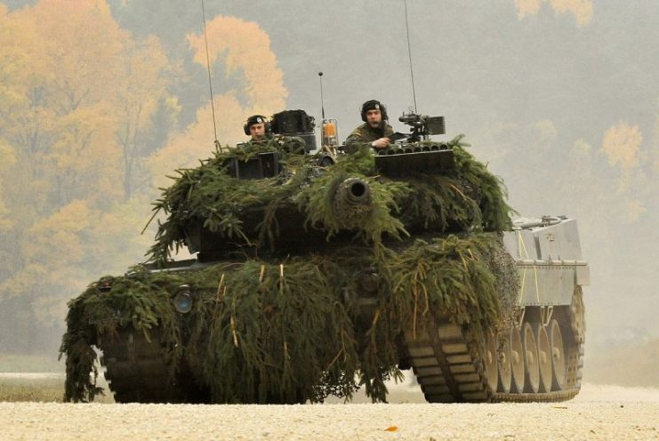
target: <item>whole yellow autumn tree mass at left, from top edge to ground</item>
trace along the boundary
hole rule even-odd
[[[176,126],[174,75],[102,0],[0,4],[0,302],[60,323],[92,277],[142,256],[144,161]]]

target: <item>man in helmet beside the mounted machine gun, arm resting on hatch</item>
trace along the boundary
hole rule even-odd
[[[346,140],[345,149],[348,153],[355,153],[360,146],[369,145],[376,150],[388,148],[390,136],[394,131],[387,123],[387,108],[378,100],[367,100],[362,104],[362,121]]]

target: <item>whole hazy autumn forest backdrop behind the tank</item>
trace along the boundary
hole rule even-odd
[[[659,3],[408,0],[419,111],[525,216],[579,220],[590,354],[659,338]],[[218,138],[253,113],[414,105],[403,0],[205,2]],[[68,299],[143,260],[173,169],[213,150],[200,2],[0,0],[0,353],[56,353]]]

